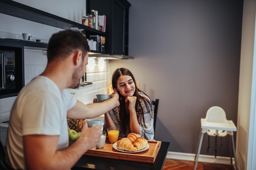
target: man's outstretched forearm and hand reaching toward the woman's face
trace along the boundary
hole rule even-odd
[[[71,119],[88,119],[98,117],[107,113],[112,108],[119,106],[119,95],[114,89],[111,98],[100,103],[83,104],[82,102],[76,102],[76,105],[67,110],[67,118]]]

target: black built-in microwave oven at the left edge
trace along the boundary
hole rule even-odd
[[[18,95],[24,86],[23,47],[0,46],[0,99]]]

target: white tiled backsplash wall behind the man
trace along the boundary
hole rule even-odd
[[[31,79],[40,73],[42,73],[47,64],[46,51],[25,49],[24,50],[24,71],[25,71],[25,85],[31,81]],[[90,86],[85,86],[82,89],[68,89],[68,91],[75,93],[73,97],[80,100],[84,104],[93,102],[97,94],[108,93],[108,60],[104,60],[103,67],[99,66],[99,60],[94,59],[94,66],[91,68],[87,66],[87,82],[92,82]],[[9,120],[9,114],[13,102],[16,97],[9,97],[0,99],[0,122]]]

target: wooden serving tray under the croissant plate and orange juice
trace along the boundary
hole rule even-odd
[[[142,152],[136,152],[136,153],[126,153],[126,152],[120,152],[118,150],[115,150],[113,148],[113,144],[111,144],[108,141],[108,137],[107,137],[104,148],[102,149],[93,148],[85,152],[84,155],[112,158],[112,159],[121,159],[121,160],[127,160],[127,161],[154,163],[157,157],[157,154],[160,150],[161,143],[162,143],[161,141],[148,141],[149,148],[147,150]]]

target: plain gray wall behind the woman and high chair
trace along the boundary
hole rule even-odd
[[[128,1],[135,59],[110,60],[110,75],[130,69],[141,90],[160,99],[155,139],[170,141],[169,151],[195,153],[208,108],[222,107],[237,124],[243,1]],[[201,154],[214,155],[213,137],[207,154],[204,135]],[[228,137],[221,149],[218,138],[218,156],[229,157]]]

